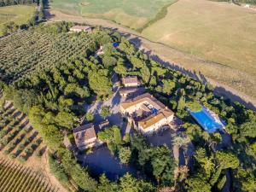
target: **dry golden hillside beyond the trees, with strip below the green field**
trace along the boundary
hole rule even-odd
[[[255,102],[256,80],[253,63],[256,55],[253,51],[253,34],[256,22],[253,10],[230,3],[179,0],[169,6],[165,18],[156,20],[141,34],[108,22],[108,18],[91,19],[90,15],[84,17],[67,11],[64,13],[63,9],[60,11],[55,6],[49,12],[55,15],[52,20],[87,22],[90,25],[119,28],[121,32],[142,36],[144,39],[138,38],[142,49],[146,47],[164,61],[184,67],[190,72],[200,71],[212,84],[222,84],[224,89],[234,95],[245,101]],[[150,43],[147,39],[160,44]],[[233,90],[237,90],[237,93]]]

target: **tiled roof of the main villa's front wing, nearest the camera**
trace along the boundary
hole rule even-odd
[[[151,125],[156,124],[159,122],[161,119],[166,119],[170,116],[172,116],[174,113],[172,110],[168,108],[161,109],[157,114],[152,114],[148,118],[143,119],[138,122],[138,125],[142,126],[143,129],[147,129]]]

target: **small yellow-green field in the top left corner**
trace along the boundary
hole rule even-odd
[[[6,22],[14,21],[20,25],[26,23],[33,14],[35,7],[26,5],[14,5],[0,8],[0,36],[3,35],[3,25]]]

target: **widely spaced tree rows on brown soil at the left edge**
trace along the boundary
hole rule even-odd
[[[29,125],[26,115],[15,110],[11,102],[0,111],[0,150],[20,162],[33,154],[40,157],[45,150],[42,139]]]

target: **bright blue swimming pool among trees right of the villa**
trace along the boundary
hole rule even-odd
[[[199,123],[199,125],[201,125],[202,128],[209,133],[224,128],[224,124],[219,120],[214,119],[212,114],[207,111],[207,108],[203,107],[203,109],[199,112],[189,111],[189,113],[197,121],[197,123]]]

